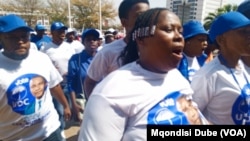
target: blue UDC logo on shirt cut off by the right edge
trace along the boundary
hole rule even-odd
[[[247,84],[241,91],[232,107],[232,118],[235,124],[250,124],[250,85]]]

